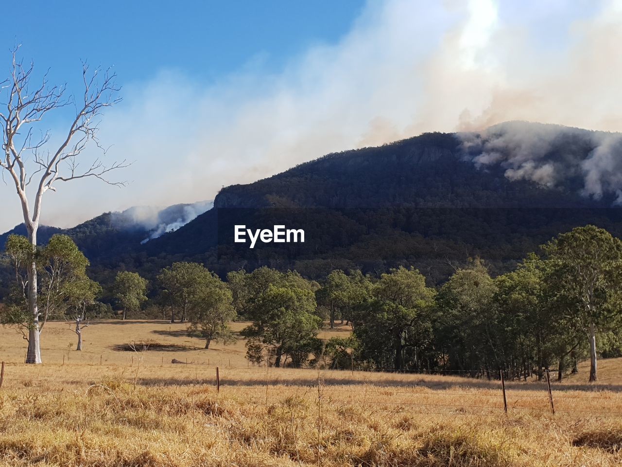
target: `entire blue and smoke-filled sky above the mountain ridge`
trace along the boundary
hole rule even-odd
[[[16,44],[36,78],[49,69],[68,92],[81,91],[80,60],[117,75],[123,100],[99,137],[106,163],[131,161],[109,177],[127,184],[83,179],[46,192],[42,223],[70,227],[134,205],[213,199],[222,186],[423,131],[506,120],[620,131],[621,5],[26,0],[2,6],[15,21],[0,29],[0,81]],[[42,122],[52,146],[70,117]],[[4,180],[0,231],[21,222]]]

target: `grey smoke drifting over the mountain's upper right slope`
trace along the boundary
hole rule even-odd
[[[609,192],[616,194],[616,204],[622,202],[620,133],[513,121],[460,137],[466,157],[480,168],[499,164],[510,180],[548,187],[580,179],[583,196],[600,199]]]

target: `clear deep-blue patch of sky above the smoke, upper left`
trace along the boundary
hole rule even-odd
[[[24,58],[51,68],[52,78],[71,81],[80,59],[88,59],[114,65],[122,82],[170,68],[210,82],[248,62],[277,72],[312,45],[337,41],[364,6],[360,0],[3,3],[2,16],[15,19],[0,29],[4,62],[17,42]]]

